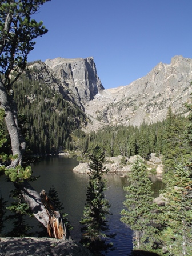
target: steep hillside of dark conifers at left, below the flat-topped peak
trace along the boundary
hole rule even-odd
[[[29,75],[32,71],[22,74],[14,85],[22,131],[30,150],[40,155],[73,150],[71,131],[86,122],[85,115],[59,92],[35,81]]]

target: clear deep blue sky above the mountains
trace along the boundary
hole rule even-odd
[[[105,89],[192,58],[192,0],[51,0],[33,18],[49,32],[28,61],[93,56]]]

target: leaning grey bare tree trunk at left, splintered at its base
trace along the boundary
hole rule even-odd
[[[22,165],[22,156],[25,152],[26,143],[18,125],[17,105],[13,99],[13,90],[10,90],[10,95],[7,94],[2,81],[0,81],[0,102],[5,110],[5,122],[11,139],[11,150],[15,157],[15,159],[11,161],[11,165],[7,166],[7,168],[15,168],[18,165]],[[47,210],[46,205],[43,205],[41,197],[29,182],[25,180],[22,183],[14,183],[14,185],[21,191],[23,198],[30,206],[35,218],[47,228],[51,237],[69,239],[69,232],[65,225],[63,225],[62,218],[59,217],[59,212],[54,212],[55,217],[54,214],[51,215],[50,210]],[[50,225],[52,231],[50,231]]]

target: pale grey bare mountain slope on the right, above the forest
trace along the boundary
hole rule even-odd
[[[171,105],[185,113],[192,92],[192,59],[175,56],[169,65],[159,63],[145,77],[130,85],[101,91],[86,103],[85,113],[101,125],[134,125],[161,121]],[[94,129],[96,126],[90,126]]]

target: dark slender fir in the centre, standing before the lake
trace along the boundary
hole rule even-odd
[[[113,245],[106,243],[106,238],[114,237],[107,234],[109,225],[107,215],[109,215],[110,204],[105,198],[106,180],[103,175],[107,173],[103,167],[105,153],[101,147],[96,146],[90,155],[89,163],[89,187],[87,189],[87,199],[83,218],[80,223],[83,225],[81,243],[91,250],[95,255],[102,255],[101,251],[111,249]]]

